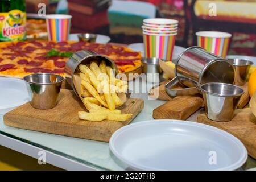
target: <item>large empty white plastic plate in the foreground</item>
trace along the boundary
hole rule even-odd
[[[138,170],[234,170],[246,162],[245,146],[216,127],[179,120],[138,122],[115,131],[110,150]]]

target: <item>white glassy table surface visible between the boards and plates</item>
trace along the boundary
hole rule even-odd
[[[139,83],[141,82],[141,85]],[[144,109],[137,115],[132,123],[151,120],[152,110],[164,104],[165,101],[150,100],[146,92],[154,84],[145,80],[129,82],[129,89],[141,89],[141,94],[133,93],[131,97],[143,98]],[[196,115],[204,112],[197,111],[188,118],[196,121]],[[65,137],[55,134],[47,134],[38,131],[30,131],[9,127],[3,123],[3,115],[0,115],[0,144],[13,150],[38,158],[39,151],[46,152],[46,162],[69,170],[125,170],[126,164],[119,161],[109,150],[109,144],[94,140]],[[250,159],[250,164],[256,166],[255,160]],[[255,164],[254,164],[255,163]]]

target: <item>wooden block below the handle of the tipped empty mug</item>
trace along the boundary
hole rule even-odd
[[[187,119],[203,105],[198,96],[177,96],[153,111],[154,119]]]

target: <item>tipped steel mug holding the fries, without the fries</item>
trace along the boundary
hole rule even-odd
[[[73,76],[76,73],[80,73],[79,70],[79,64],[88,64],[90,61],[101,61],[105,60],[106,65],[109,65],[114,69],[115,75],[118,74],[118,68],[115,65],[114,61],[110,60],[106,56],[97,55],[95,52],[92,51],[78,51],[76,53],[73,53],[71,57],[69,57],[69,60],[67,61],[65,65],[65,73],[66,73],[66,80],[69,83],[69,85],[72,86],[73,90],[75,91],[76,95],[79,96],[76,92],[76,88],[73,85]]]

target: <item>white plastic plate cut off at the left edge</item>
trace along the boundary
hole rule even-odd
[[[26,84],[17,78],[0,77],[0,114],[29,101]]]

